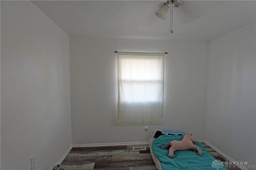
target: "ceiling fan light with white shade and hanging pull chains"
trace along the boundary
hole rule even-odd
[[[158,18],[160,18],[161,20],[166,20],[166,14],[170,8],[170,33],[173,33],[173,30],[172,30],[173,7],[178,8],[182,4],[184,4],[184,2],[180,0],[168,0],[167,2],[164,2],[164,4],[159,8],[158,11],[155,12]]]

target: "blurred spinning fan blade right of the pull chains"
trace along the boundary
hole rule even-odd
[[[182,1],[182,5],[174,8],[174,20],[184,24],[200,18],[204,9],[200,6],[200,1]]]

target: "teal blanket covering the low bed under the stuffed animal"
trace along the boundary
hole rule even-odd
[[[180,137],[178,135],[161,135],[153,141],[152,150],[161,162],[163,170],[217,170],[217,168],[218,170],[227,170],[221,164],[213,164],[212,167],[215,158],[206,151],[200,142],[196,142],[194,145],[200,147],[203,156],[198,156],[197,152],[192,150],[177,150],[174,152],[175,158],[169,158],[169,150],[161,149],[161,147],[173,140],[180,141]]]

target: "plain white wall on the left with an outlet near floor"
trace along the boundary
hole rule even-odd
[[[69,36],[30,1],[1,1],[1,169],[52,169],[71,145]]]

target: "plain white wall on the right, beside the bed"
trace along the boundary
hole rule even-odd
[[[204,139],[256,164],[255,21],[210,41]]]

